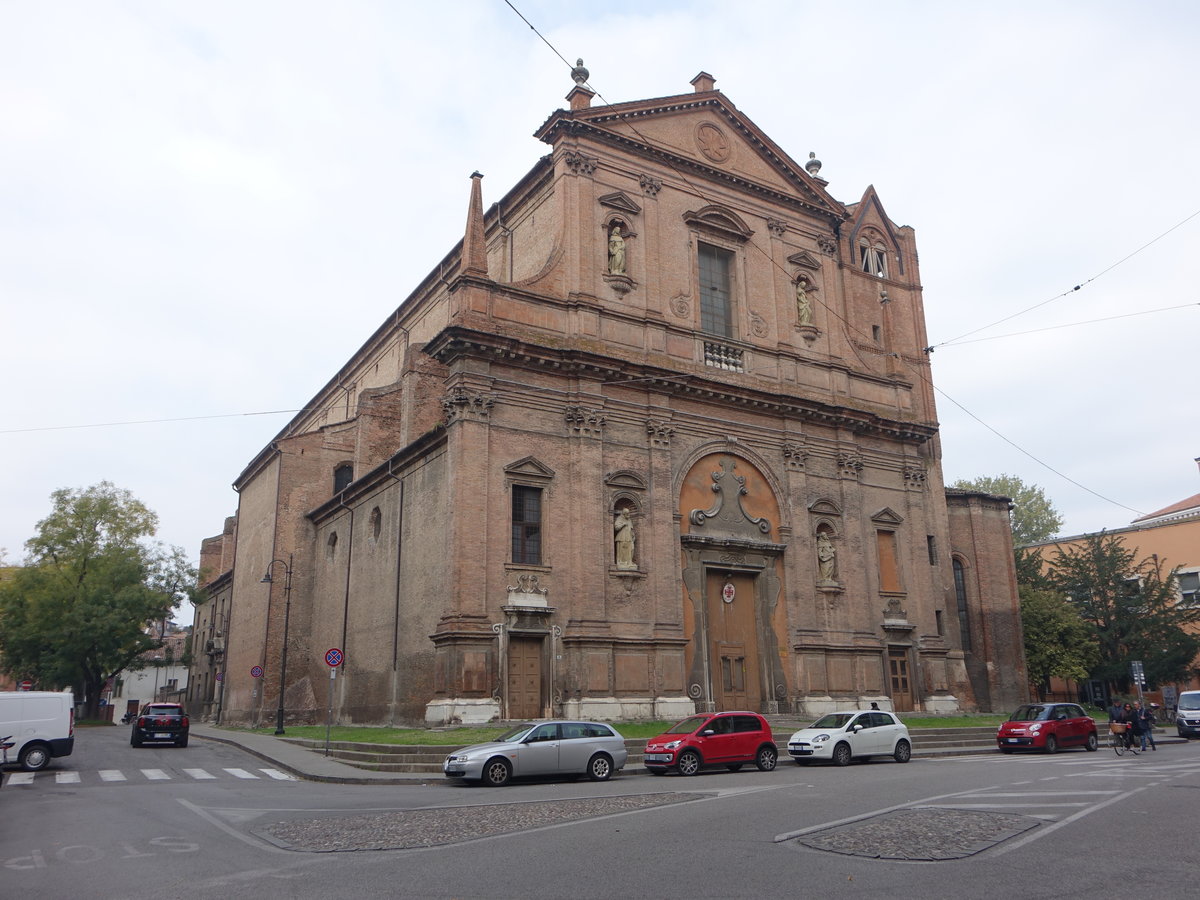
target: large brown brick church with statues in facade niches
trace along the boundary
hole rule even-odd
[[[577,79],[486,212],[472,176],[462,242],[238,476],[193,714],[271,721],[284,641],[289,722],[1026,698],[1008,503],[943,487],[913,230],[692,86]]]

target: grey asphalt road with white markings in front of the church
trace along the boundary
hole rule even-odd
[[[0,896],[1194,895],[1200,743],[608,782],[324,785],[240,749],[76,754],[0,790]]]

